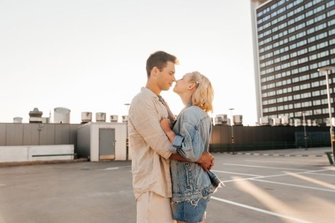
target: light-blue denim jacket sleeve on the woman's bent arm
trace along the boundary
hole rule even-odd
[[[186,114],[191,115],[191,114]],[[179,153],[181,156],[195,162],[200,159],[204,152],[204,142],[201,137],[199,125],[201,121],[193,118],[183,118],[179,134],[175,136],[173,146],[170,147],[171,153]]]

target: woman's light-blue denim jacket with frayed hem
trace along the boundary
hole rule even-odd
[[[189,201],[196,205],[220,187],[220,179],[211,171],[207,173],[198,164],[202,153],[208,152],[211,119],[207,112],[191,101],[178,115],[173,131],[176,136],[171,146],[172,153],[179,153],[191,162],[175,159],[170,161],[172,176],[172,202]]]

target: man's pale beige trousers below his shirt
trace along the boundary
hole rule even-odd
[[[172,223],[171,198],[145,192],[137,198],[137,223]]]

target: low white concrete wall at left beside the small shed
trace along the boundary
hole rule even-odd
[[[74,156],[32,157],[33,155],[57,155],[73,153],[74,145],[0,146],[0,162],[74,159]]]

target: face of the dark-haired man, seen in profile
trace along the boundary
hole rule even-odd
[[[157,84],[162,91],[167,91],[175,81],[175,64],[168,61],[162,71],[158,71]]]

